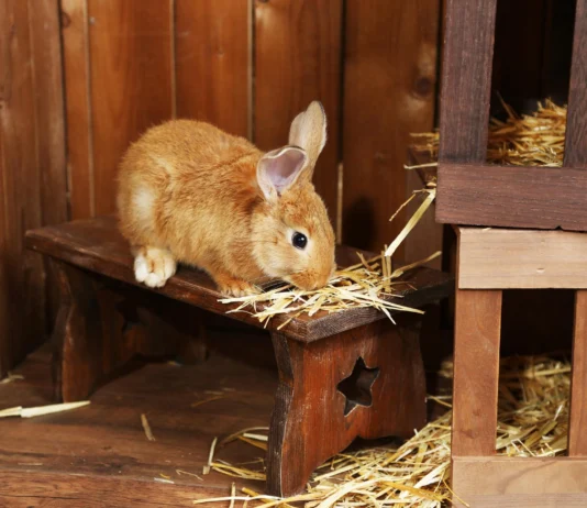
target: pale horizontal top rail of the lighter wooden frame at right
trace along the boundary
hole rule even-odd
[[[587,288],[587,234],[457,228],[461,289]]]

